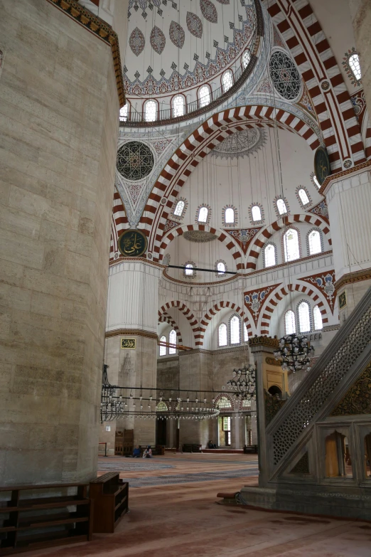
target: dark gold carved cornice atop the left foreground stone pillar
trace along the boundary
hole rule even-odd
[[[126,98],[124,92],[124,80],[122,79],[122,63],[119,51],[119,38],[110,25],[100,17],[92,14],[75,0],[46,0],[52,6],[63,11],[68,17],[85,27],[93,35],[111,47],[114,62],[114,75],[116,76],[117,94],[119,95],[120,107],[123,107]]]

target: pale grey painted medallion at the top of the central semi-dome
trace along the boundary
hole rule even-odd
[[[210,154],[212,157],[220,157],[221,159],[249,157],[249,154],[263,147],[266,141],[267,135],[264,129],[256,127],[242,129],[223,139]]]

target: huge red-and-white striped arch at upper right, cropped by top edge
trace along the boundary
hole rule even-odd
[[[307,0],[262,0],[298,66],[316,108],[331,169],[364,162],[365,147],[348,89],[330,44]],[[324,80],[330,83],[323,89]]]

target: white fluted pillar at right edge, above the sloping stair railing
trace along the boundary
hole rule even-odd
[[[371,285],[371,164],[330,176],[325,188],[340,325]],[[343,174],[343,173],[342,173]]]

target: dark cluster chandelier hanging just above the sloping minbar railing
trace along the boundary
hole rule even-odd
[[[284,371],[309,371],[312,366],[314,348],[308,337],[296,333],[286,334],[279,339],[279,349],[274,351],[276,360],[281,359]]]

